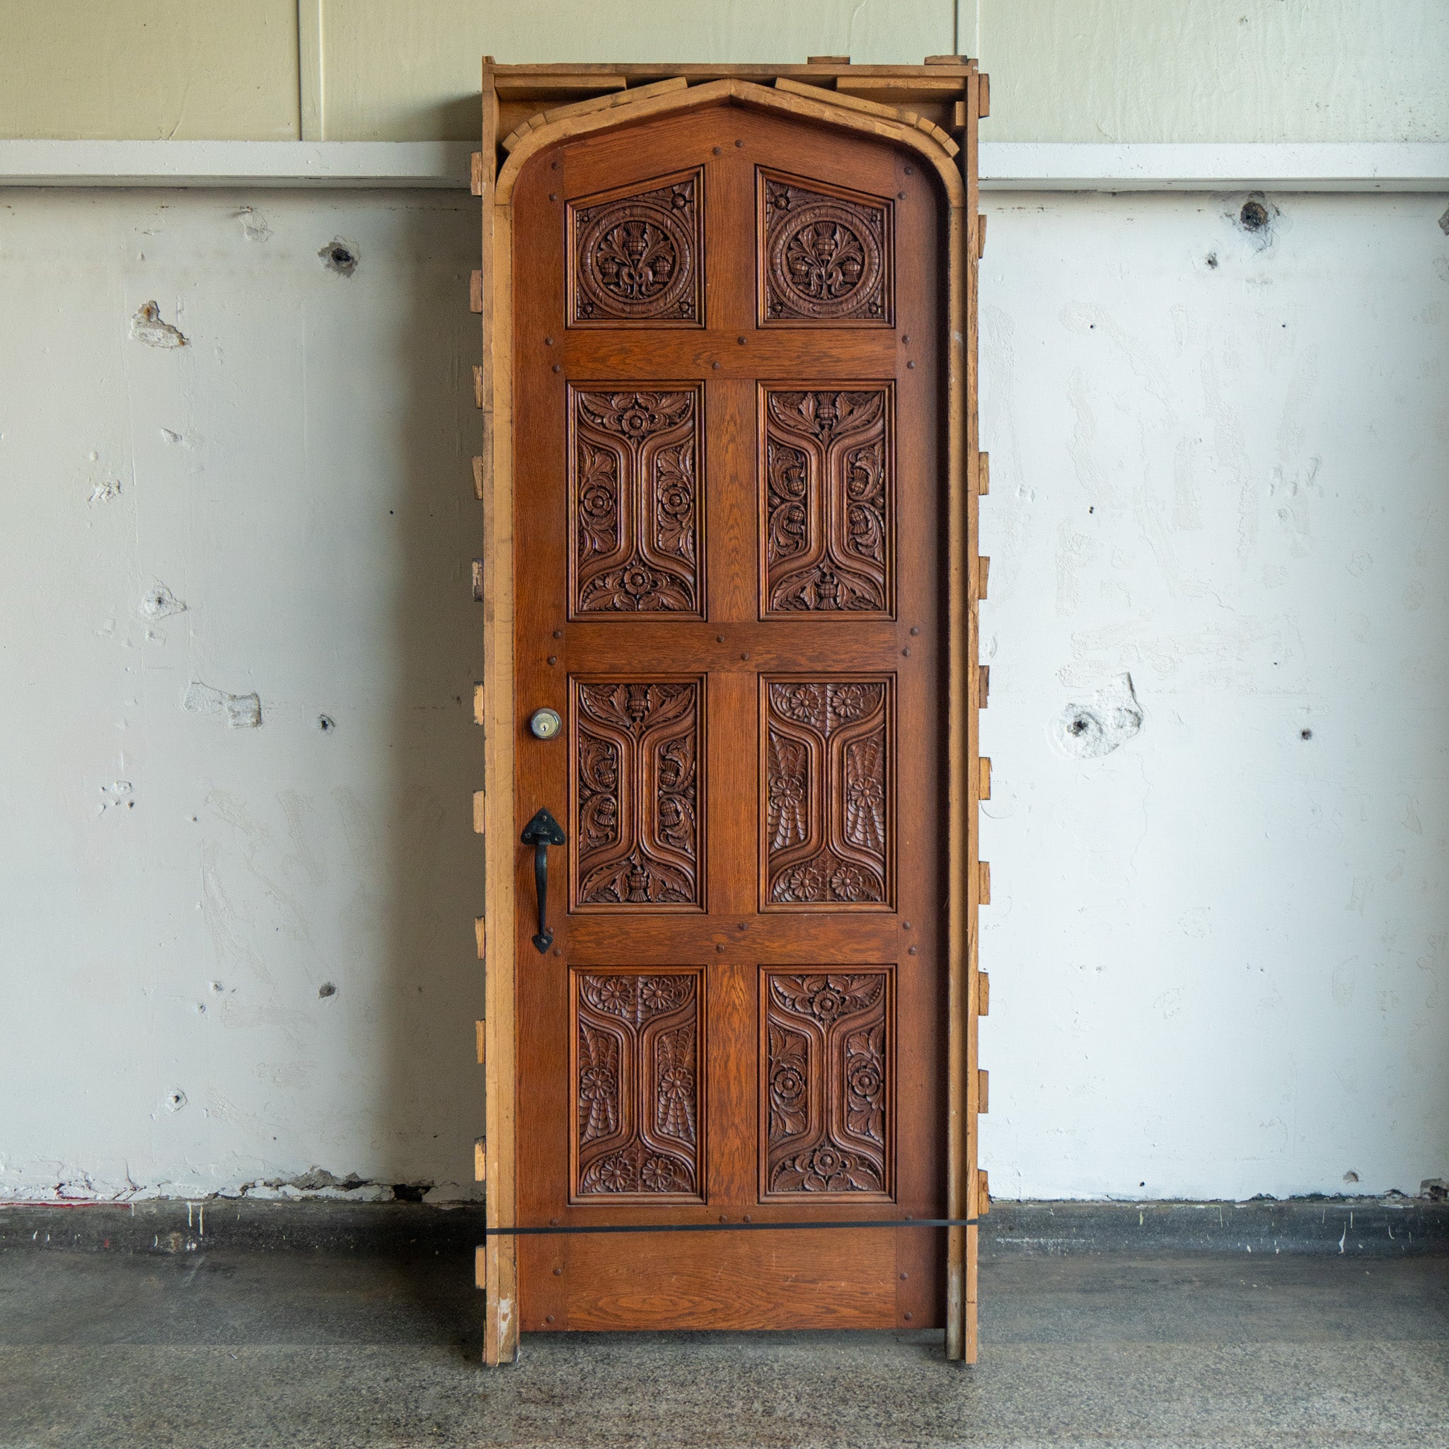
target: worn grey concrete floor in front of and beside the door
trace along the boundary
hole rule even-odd
[[[4,1449],[1449,1446],[1449,1258],[982,1268],[910,1333],[549,1335],[478,1366],[455,1255],[0,1253]]]

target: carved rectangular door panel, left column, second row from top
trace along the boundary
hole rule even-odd
[[[703,390],[571,387],[569,617],[701,619]]]

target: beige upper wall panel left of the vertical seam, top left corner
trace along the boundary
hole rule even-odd
[[[0,0],[0,139],[296,136],[296,0]]]

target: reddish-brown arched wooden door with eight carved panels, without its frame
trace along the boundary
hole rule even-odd
[[[927,171],[720,104],[517,178],[523,1224],[945,1214]],[[943,1236],[520,1237],[522,1327],[927,1327]]]

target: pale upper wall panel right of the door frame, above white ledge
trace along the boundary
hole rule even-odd
[[[1445,0],[978,0],[985,141],[1443,141]]]

